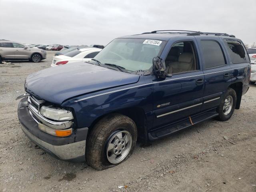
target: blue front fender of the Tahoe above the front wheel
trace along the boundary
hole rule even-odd
[[[62,103],[62,106],[74,109],[77,128],[90,127],[101,116],[125,108],[142,108],[145,114],[152,116],[150,113],[153,109],[152,86],[152,84],[146,84],[142,78],[133,85],[72,98]]]

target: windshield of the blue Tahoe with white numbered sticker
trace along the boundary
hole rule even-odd
[[[118,38],[110,42],[94,59],[129,71],[150,70],[152,59],[160,56],[165,44],[165,41],[160,40]]]

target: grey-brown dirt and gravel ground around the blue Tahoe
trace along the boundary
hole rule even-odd
[[[137,144],[126,162],[96,171],[52,158],[20,129],[15,98],[28,74],[50,67],[54,52],[47,54],[37,64],[0,64],[0,191],[256,192],[256,85],[229,121],[212,119],[151,146]]]

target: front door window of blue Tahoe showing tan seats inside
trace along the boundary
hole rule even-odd
[[[166,72],[176,74],[198,70],[197,52],[193,41],[174,43],[165,59]]]

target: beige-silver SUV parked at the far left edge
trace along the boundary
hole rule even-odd
[[[46,51],[39,48],[30,48],[23,44],[0,40],[0,61],[1,60],[30,60],[40,62],[46,59]]]

